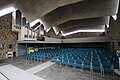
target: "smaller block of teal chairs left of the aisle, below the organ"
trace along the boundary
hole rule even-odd
[[[64,49],[45,49],[32,53],[24,53],[23,57],[35,61],[43,61],[59,55]]]

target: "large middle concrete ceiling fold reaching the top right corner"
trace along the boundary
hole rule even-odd
[[[119,0],[86,0],[59,7],[41,18],[46,27],[53,27],[76,19],[115,15]]]

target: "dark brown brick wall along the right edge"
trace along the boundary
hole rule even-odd
[[[111,49],[112,50],[120,50],[120,6],[117,14],[117,20],[114,20],[112,17],[110,18],[110,28],[108,36],[112,39]]]

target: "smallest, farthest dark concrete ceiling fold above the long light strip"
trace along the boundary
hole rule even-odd
[[[106,16],[106,17],[98,17],[98,18],[71,20],[71,21],[65,22],[63,24],[60,24],[55,28],[56,28],[57,32],[67,30],[70,28],[74,28],[77,26],[81,26],[81,27],[85,27],[85,28],[87,28],[89,26],[93,26],[93,28],[94,28],[95,25],[108,25],[109,18],[110,18],[109,16]]]

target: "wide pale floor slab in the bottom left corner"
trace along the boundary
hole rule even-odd
[[[22,69],[19,69],[11,64],[1,66],[0,72],[3,75],[5,75],[8,78],[8,80],[45,80],[31,73],[28,73]],[[3,77],[3,76],[0,76],[0,77]]]

